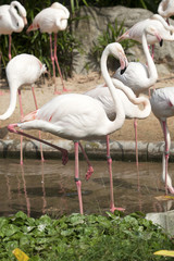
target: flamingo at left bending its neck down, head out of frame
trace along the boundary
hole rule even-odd
[[[20,98],[21,117],[24,116],[20,87],[25,84],[32,85],[35,105],[36,105],[36,109],[38,109],[35,92],[34,92],[34,84],[36,80],[39,79],[41,74],[46,73],[46,71],[47,71],[46,65],[42,64],[39,61],[39,59],[37,59],[35,55],[32,55],[32,54],[22,53],[9,61],[5,67],[5,73],[7,73],[9,87],[10,87],[10,104],[7,111],[2,115],[0,115],[0,120],[4,121],[13,114],[16,105],[17,92]],[[23,138],[21,137],[21,164],[23,164],[22,141],[23,141]],[[41,153],[41,160],[44,161],[42,149],[40,153]]]

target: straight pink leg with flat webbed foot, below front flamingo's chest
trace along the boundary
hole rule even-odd
[[[107,161],[109,166],[109,174],[110,174],[110,211],[114,212],[115,210],[125,211],[123,208],[115,208],[114,206],[114,197],[113,197],[113,177],[112,177],[112,159],[110,156],[110,140],[109,135],[107,135]]]

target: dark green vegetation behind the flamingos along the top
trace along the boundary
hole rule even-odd
[[[50,7],[55,0],[20,0],[20,2],[25,7],[27,11],[27,21],[28,25],[32,24],[35,15],[45,8]],[[64,32],[60,32],[58,34],[58,59],[60,66],[62,69],[62,73],[64,77],[72,76],[72,63],[73,57],[72,53],[77,53],[74,50],[83,51],[80,42],[77,41],[75,36],[73,35],[73,23],[79,18],[77,11],[82,5],[95,5],[98,8],[103,7],[112,7],[112,5],[125,5],[128,8],[144,8],[149,9],[152,12],[157,11],[158,4],[160,0],[60,0],[62,4],[67,7],[71,12],[71,17],[69,20],[67,29]],[[10,4],[11,0],[0,0],[0,5]],[[117,32],[123,32],[122,28],[115,27],[115,25],[109,25],[108,30],[103,32],[103,36],[99,39],[99,46],[95,46],[92,52],[95,52],[96,60],[100,57],[101,49],[109,42],[105,40],[112,39]],[[108,39],[105,38],[108,37]],[[128,48],[130,44],[123,44],[124,48]],[[1,60],[1,73],[4,75],[4,69],[9,61],[8,58],[8,48],[9,48],[9,36],[1,35],[0,36],[0,60]],[[30,32],[26,34],[26,28],[20,34],[12,34],[12,57],[20,53],[30,53],[35,54],[41,62],[46,63],[49,71],[51,71],[51,60],[50,60],[50,47],[49,47],[49,36],[48,34],[40,34],[39,30]],[[94,53],[92,53],[94,54]],[[73,54],[75,55],[75,54]]]

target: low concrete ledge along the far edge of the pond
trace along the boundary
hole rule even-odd
[[[57,140],[50,142],[62,147],[69,151],[69,158],[74,158],[74,144],[71,140]],[[82,141],[89,159],[105,159],[105,141]],[[1,140],[0,158],[18,158],[20,157],[20,139],[18,140]],[[161,161],[164,142],[142,142],[138,141],[139,161]],[[61,152],[52,147],[42,144],[45,158],[61,159]],[[110,140],[111,156],[113,160],[135,161],[135,141],[113,141]],[[24,140],[23,150],[25,158],[39,158],[40,144],[34,140]],[[79,154],[82,157],[82,153]],[[174,161],[174,142],[171,145],[170,161]]]

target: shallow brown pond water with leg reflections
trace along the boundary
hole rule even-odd
[[[60,216],[79,212],[74,182],[74,161],[65,166],[60,160],[0,160],[0,216],[22,210],[29,216],[41,214]],[[87,164],[79,161],[84,213],[104,214],[110,207],[110,179],[105,161],[91,161],[94,174],[85,179]],[[170,163],[170,173],[174,164]],[[174,178],[173,178],[174,179]],[[138,185],[139,184],[139,185]],[[172,210],[174,201],[159,201],[164,195],[161,182],[161,163],[139,164],[139,182],[135,162],[113,161],[113,185],[115,206],[125,208],[125,213],[141,211],[162,212]],[[138,190],[139,186],[139,190]]]

